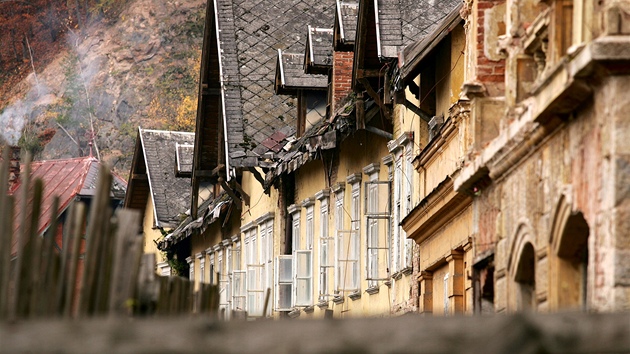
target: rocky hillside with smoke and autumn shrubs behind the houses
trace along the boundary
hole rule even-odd
[[[0,112],[2,137],[36,159],[94,154],[126,175],[138,126],[192,130],[205,1],[135,0],[116,21],[66,32]],[[2,104],[0,104],[2,107]]]

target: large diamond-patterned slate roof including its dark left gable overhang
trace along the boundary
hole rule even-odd
[[[205,107],[201,99],[205,95],[218,95],[219,105],[212,109],[221,112],[222,119],[219,121],[210,108],[207,113],[198,114],[197,137],[219,136],[218,146],[227,141],[224,153],[227,152],[228,170],[256,166],[259,156],[253,149],[277,130],[295,126],[297,116],[294,98],[274,95],[277,50],[302,52],[306,24],[332,24],[334,0],[267,0],[257,4],[215,0],[208,8],[200,107]],[[204,84],[208,88],[206,94]],[[209,144],[201,140],[196,143],[195,159],[200,162],[194,163],[193,179],[197,176],[195,171],[213,170],[220,164],[220,159],[203,163],[204,154],[216,155],[208,152],[216,141],[208,139]]]

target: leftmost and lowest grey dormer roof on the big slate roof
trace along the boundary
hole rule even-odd
[[[278,49],[274,84],[276,94],[296,95],[299,89],[325,89],[327,84],[327,76],[304,72],[304,54],[286,53]]]

